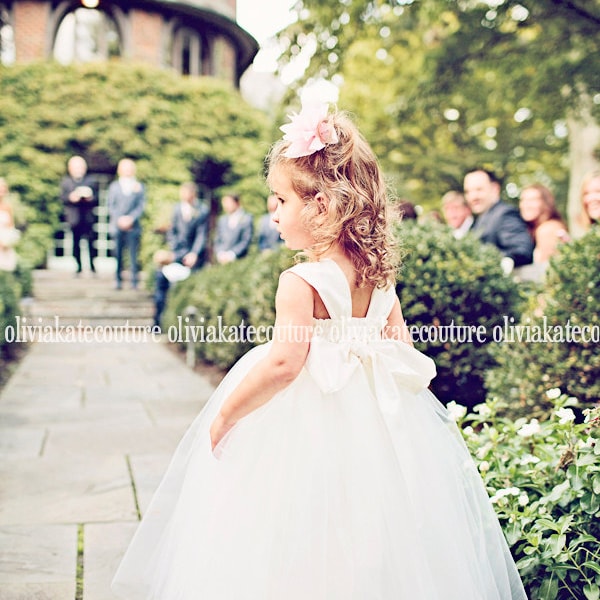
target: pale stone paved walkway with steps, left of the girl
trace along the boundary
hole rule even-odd
[[[31,323],[151,323],[148,292],[112,279],[42,271],[35,290]],[[212,389],[164,339],[31,344],[0,393],[0,600],[113,599],[140,514]]]

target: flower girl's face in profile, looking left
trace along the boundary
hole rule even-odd
[[[304,202],[294,191],[290,177],[283,169],[275,169],[269,176],[273,194],[277,196],[277,210],[273,221],[285,245],[290,250],[305,250],[315,242],[305,226],[301,213]]]

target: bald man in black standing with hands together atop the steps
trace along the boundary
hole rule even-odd
[[[97,206],[95,182],[87,172],[87,163],[82,156],[72,156],[67,162],[67,174],[60,182],[60,199],[63,203],[65,221],[73,234],[73,258],[77,263],[77,274],[81,273],[81,241],[85,240],[90,260],[90,271],[96,272],[94,258],[94,224]]]

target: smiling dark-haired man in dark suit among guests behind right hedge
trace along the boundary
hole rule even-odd
[[[465,198],[475,215],[471,231],[496,246],[512,266],[528,265],[533,262],[533,239],[519,209],[500,200],[500,189],[491,171],[474,169],[465,175]]]

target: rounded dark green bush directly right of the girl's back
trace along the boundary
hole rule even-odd
[[[406,221],[398,237],[405,256],[396,291],[415,346],[435,360],[433,392],[444,403],[483,402],[494,328],[519,316],[517,284],[503,274],[493,246],[455,240],[445,226]],[[461,342],[469,333],[471,341]]]

